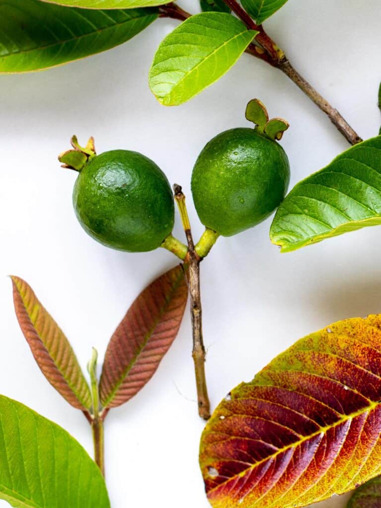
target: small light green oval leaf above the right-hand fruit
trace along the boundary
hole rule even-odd
[[[222,12],[186,19],[158,47],[149,71],[149,86],[165,106],[177,106],[223,76],[257,31]]]

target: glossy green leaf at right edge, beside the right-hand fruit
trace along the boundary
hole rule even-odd
[[[270,228],[273,243],[290,252],[349,231],[381,224],[381,136],[338,155],[297,183]]]

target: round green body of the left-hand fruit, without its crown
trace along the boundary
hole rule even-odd
[[[73,204],[83,229],[118,250],[153,250],[174,224],[167,177],[148,157],[129,150],[92,158],[75,182]]]

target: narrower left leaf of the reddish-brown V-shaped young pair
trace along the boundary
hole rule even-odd
[[[18,322],[35,360],[49,383],[72,406],[91,407],[91,394],[73,349],[33,289],[12,276]]]

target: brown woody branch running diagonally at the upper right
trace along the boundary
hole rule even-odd
[[[330,103],[294,69],[283,51],[266,33],[263,26],[257,25],[246,11],[244,11],[236,2],[236,0],[224,0],[224,2],[250,30],[259,31],[259,34],[255,39],[259,46],[253,43],[249,44],[245,50],[246,53],[266,61],[272,67],[275,67],[283,72],[283,74],[288,76],[303,91],[303,93],[305,93],[306,96],[328,116],[331,122],[335,125],[336,129],[351,145],[360,143],[362,139],[354,131],[354,129],[352,129],[351,125],[337,111],[337,109],[333,108]],[[166,6],[161,7],[161,17],[170,17],[185,21],[185,19],[190,16],[188,12],[185,12],[182,9],[177,10],[175,4],[168,5],[170,5],[171,8],[167,10]]]

